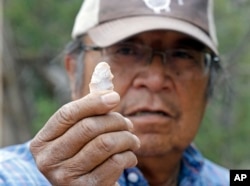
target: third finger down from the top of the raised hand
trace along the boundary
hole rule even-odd
[[[84,166],[78,168],[78,171],[86,174],[114,154],[128,150],[134,151],[139,146],[139,139],[128,131],[102,134],[89,142],[79,153],[66,162],[72,167],[85,162]]]

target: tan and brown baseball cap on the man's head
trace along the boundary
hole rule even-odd
[[[107,47],[150,30],[187,34],[218,54],[213,0],[85,0],[72,37],[88,34]]]

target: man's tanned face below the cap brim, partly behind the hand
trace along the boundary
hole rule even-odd
[[[157,51],[197,47],[188,36],[171,31],[145,32],[127,41]],[[91,44],[89,39],[86,42]],[[88,93],[95,65],[101,60],[107,61],[114,75],[114,89],[121,96],[114,111],[133,122],[134,134],[141,140],[137,155],[157,156],[183,151],[197,133],[204,113],[208,74],[186,67],[188,75],[183,75],[178,69],[173,70],[175,64],[168,65],[169,58],[157,53],[152,56],[151,63],[143,65],[129,61],[127,65],[113,63],[113,59],[105,55],[105,52],[103,56],[96,51],[86,52],[82,96]]]

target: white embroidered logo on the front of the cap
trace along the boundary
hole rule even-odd
[[[143,0],[148,8],[152,9],[156,14],[160,14],[161,11],[170,12],[171,0]],[[176,0],[177,1],[177,0]],[[183,5],[183,0],[178,0],[179,5]]]

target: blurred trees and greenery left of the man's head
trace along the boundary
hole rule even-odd
[[[60,57],[80,3],[5,1],[3,145],[30,139],[69,99]]]

